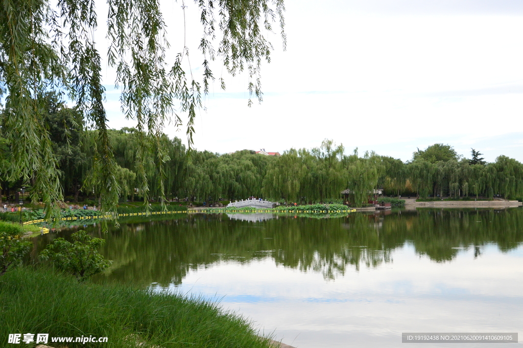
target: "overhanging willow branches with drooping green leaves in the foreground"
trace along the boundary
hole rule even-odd
[[[146,132],[157,140],[157,151],[144,150],[137,161],[151,155],[158,162],[168,160],[160,134],[173,117],[179,125],[183,113],[188,115],[187,136],[192,144],[201,94],[214,80],[212,61],[221,61],[231,75],[246,71],[249,96],[261,101],[261,63],[269,61],[272,50],[265,36],[275,22],[285,48],[283,0],[196,0],[203,55],[203,76],[198,80],[186,71],[185,43],[173,55],[168,51],[159,0],[107,1],[108,17],[101,21],[107,22],[107,61],[116,70],[123,113],[137,122],[140,134]],[[183,2],[181,7],[185,10]],[[99,20],[95,0],[6,0],[0,5],[0,100],[5,98],[6,115],[2,127],[14,159],[9,173],[25,181],[35,175],[32,200],[41,198],[48,207],[62,199],[57,161],[41,111],[42,97],[51,89],[65,93],[86,124],[97,130],[91,181],[97,182],[102,208],[115,207],[120,194],[104,108],[102,57],[95,45]],[[169,60],[171,56],[176,58]],[[224,88],[222,78],[220,84]],[[147,181],[143,172],[137,174]],[[147,198],[147,190],[143,193]]]

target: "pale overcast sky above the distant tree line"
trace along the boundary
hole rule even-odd
[[[283,153],[332,139],[347,153],[358,147],[406,161],[441,142],[469,158],[474,148],[487,161],[505,154],[523,162],[523,2],[285,3],[288,47],[271,36],[263,103],[247,107],[246,76],[225,76],[225,92],[215,83],[196,121],[198,150]],[[173,52],[183,42],[180,5],[164,6]],[[201,76],[199,13],[187,5],[192,71]],[[106,69],[109,125],[132,126],[113,81]],[[165,132],[186,143],[185,129]]]

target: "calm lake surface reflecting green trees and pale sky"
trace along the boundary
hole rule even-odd
[[[523,209],[388,213],[85,229],[106,239],[101,253],[113,260],[98,280],[220,300],[299,348],[399,347],[402,332],[518,332],[523,341]],[[35,254],[56,236],[36,239]]]

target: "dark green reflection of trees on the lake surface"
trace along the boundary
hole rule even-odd
[[[348,270],[390,263],[394,250],[405,244],[435,262],[450,262],[463,248],[472,248],[474,257],[481,257],[483,246],[490,243],[506,252],[523,242],[523,209],[274,216],[257,222],[226,215],[185,215],[164,221],[122,221],[120,228],[105,235],[98,227],[86,230],[106,239],[100,252],[113,261],[99,279],[166,286],[180,284],[189,271],[218,262],[248,264],[267,258],[335,279]],[[33,256],[55,237],[35,239]]]

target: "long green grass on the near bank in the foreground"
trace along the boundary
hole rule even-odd
[[[67,343],[69,348],[270,346],[245,319],[199,298],[78,283],[46,268],[21,267],[0,277],[0,308],[0,340],[5,343],[10,333],[22,338],[49,333],[50,338],[108,338],[107,343]]]

